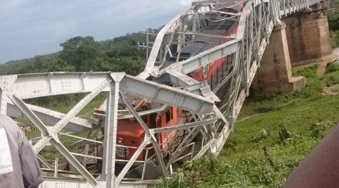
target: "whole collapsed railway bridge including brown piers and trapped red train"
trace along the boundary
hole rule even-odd
[[[321,14],[326,4],[192,3],[157,34],[138,76],[0,76],[0,114],[28,119],[41,132],[31,140],[46,179],[41,187],[147,187],[152,179],[174,173],[184,161],[218,155],[247,96],[305,86],[305,78],[292,76],[291,63],[331,54],[327,19]],[[107,93],[107,100],[92,117],[76,117],[101,92]],[[67,114],[24,102],[72,93],[86,96]],[[102,135],[93,130],[102,130]],[[78,141],[66,148],[60,141],[65,136]],[[53,164],[40,155],[46,146],[57,151]]]

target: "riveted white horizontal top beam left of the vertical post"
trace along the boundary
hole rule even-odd
[[[3,76],[0,76],[0,79]],[[110,73],[37,73],[20,74],[9,86],[8,95],[20,99],[92,92],[98,83],[110,79]],[[102,91],[108,91],[104,88]]]

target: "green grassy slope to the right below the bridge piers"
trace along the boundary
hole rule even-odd
[[[235,133],[217,158],[187,163],[153,187],[280,187],[291,172],[339,121],[339,98],[322,90],[339,83],[338,65],[295,73],[307,78],[300,92],[248,99]],[[249,117],[246,119],[246,117]]]

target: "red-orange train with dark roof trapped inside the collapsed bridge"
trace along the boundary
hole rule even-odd
[[[242,11],[243,5],[239,4],[242,1],[228,1],[227,3],[223,3],[224,9],[217,9],[220,14],[223,11],[238,13]],[[200,2],[204,3],[204,2]],[[209,2],[211,3],[211,2]],[[236,5],[236,6],[232,6]],[[231,8],[226,8],[231,7]],[[225,19],[221,22],[213,22],[213,20],[208,21],[206,27],[201,31],[202,33],[212,34],[212,35],[220,35],[220,36],[232,36],[237,33],[238,23],[236,19]],[[181,50],[181,53],[174,54],[172,58],[168,58],[168,60],[164,63],[161,68],[165,68],[173,63],[176,63],[176,60],[179,57],[179,61],[183,61],[189,59],[193,56],[196,56],[206,50],[213,48],[216,45],[229,41],[226,37],[206,37],[206,36],[196,36],[193,42],[187,43]],[[233,56],[224,57],[218,59],[211,63],[210,65],[204,66],[192,73],[189,74],[190,77],[196,79],[199,82],[208,81],[211,89],[215,85],[217,85],[223,77],[225,77],[230,71],[232,71],[233,67],[230,66],[233,61]],[[164,83],[164,80],[157,80],[158,78],[154,78],[153,81],[158,81]],[[167,84],[171,84],[170,81],[167,81]],[[142,99],[129,99],[134,105],[135,109],[139,111],[147,111],[154,109],[155,107],[152,104],[148,104]],[[153,104],[154,105],[154,104]],[[121,108],[122,111],[126,111],[125,108]],[[101,108],[101,110],[96,110],[96,114],[104,114],[105,108]],[[157,127],[168,127],[178,124],[183,124],[191,121],[193,118],[187,115],[188,113],[182,109],[178,109],[177,107],[168,107],[161,112],[151,113],[143,115],[142,118],[146,125],[149,128],[157,128]],[[170,157],[170,155],[174,152],[174,150],[181,143],[181,138],[187,132],[182,131],[171,131],[171,132],[161,132],[157,133],[156,138],[158,141],[159,148],[162,152],[164,158]],[[116,158],[121,160],[119,163],[126,164],[127,160],[129,160],[132,155],[135,153],[138,146],[143,142],[145,132],[139,123],[134,118],[126,118],[118,120],[118,134],[117,134],[117,156]],[[149,146],[151,147],[151,146]],[[152,152],[151,152],[152,154]],[[148,156],[150,156],[149,154]],[[153,152],[154,154],[154,152]],[[125,160],[125,162],[123,162]],[[137,160],[142,161],[145,159],[145,151],[143,151],[137,158]],[[137,164],[136,164],[137,166]]]

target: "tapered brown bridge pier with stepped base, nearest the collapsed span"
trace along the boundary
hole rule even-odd
[[[286,24],[277,24],[270,36],[270,43],[261,59],[261,67],[257,70],[250,96],[267,96],[272,93],[294,92],[306,85],[304,77],[293,77],[290,53],[286,37]]]

